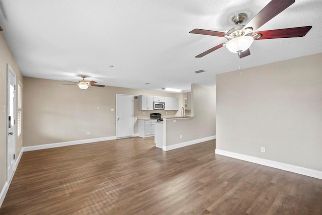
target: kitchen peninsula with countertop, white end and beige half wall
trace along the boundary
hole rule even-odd
[[[155,131],[154,131],[155,147],[161,148],[163,149],[163,151],[168,151],[168,150],[177,149],[180,147],[185,147],[185,146],[194,144],[191,141],[186,141],[189,139],[187,128],[189,127],[189,124],[191,124],[187,122],[188,121],[190,122],[193,119],[194,119],[193,116],[185,116],[185,117],[174,116],[174,117],[164,117],[163,121],[155,122]],[[176,131],[175,134],[172,131]]]

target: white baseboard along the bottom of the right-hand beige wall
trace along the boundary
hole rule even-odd
[[[234,152],[228,152],[228,151],[219,150],[219,149],[215,150],[215,154],[223,155],[223,156],[227,156],[230,158],[235,158],[235,159],[239,159],[239,160],[243,160],[243,161],[249,161],[252,163],[261,164],[264,166],[273,167],[276,169],[285,170],[285,171],[289,171],[289,172],[293,172],[293,173],[298,173],[298,174],[310,176],[313,178],[322,179],[322,172],[317,171],[317,170],[312,170],[312,169],[308,169],[308,168],[304,168],[304,167],[294,166],[294,165],[290,165],[290,164],[280,163],[277,161],[266,160],[266,159],[262,159],[262,158],[238,154],[238,153],[234,153]]]

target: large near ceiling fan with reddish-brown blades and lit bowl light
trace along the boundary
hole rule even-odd
[[[249,47],[252,45],[254,40],[303,37],[312,28],[312,26],[254,32],[254,30],[263,26],[294,2],[295,0],[272,0],[246,25],[241,24],[247,19],[247,14],[237,14],[231,19],[231,21],[237,26],[230,29],[227,33],[203,29],[194,29],[190,31],[189,33],[224,37],[228,40],[228,42],[223,42],[195,57],[203,57],[222,46],[226,46],[229,51],[238,53],[239,58],[241,58],[251,54]]]

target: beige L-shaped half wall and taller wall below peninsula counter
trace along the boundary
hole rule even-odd
[[[194,118],[167,120],[167,146],[216,135],[216,88],[192,84],[191,94]]]

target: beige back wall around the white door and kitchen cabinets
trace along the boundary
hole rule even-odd
[[[115,136],[116,94],[155,95],[179,98],[182,93],[128,88],[90,87],[79,89],[77,85],[63,81],[24,78],[24,147],[57,142]],[[100,109],[97,109],[97,106]],[[149,117],[150,113],[175,115],[180,111],[139,111],[138,99],[134,99],[134,133],[137,133],[137,116]],[[143,115],[143,112],[145,115]],[[91,135],[87,135],[90,131]]]

